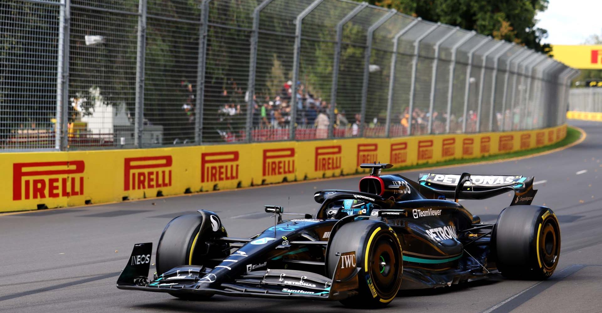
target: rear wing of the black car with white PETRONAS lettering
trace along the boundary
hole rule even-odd
[[[471,175],[458,174],[420,174],[418,183],[445,198],[486,199],[509,191],[514,192],[510,205],[531,204],[537,190],[533,190],[533,178],[520,175]]]

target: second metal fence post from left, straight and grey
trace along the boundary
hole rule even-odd
[[[136,101],[134,145],[142,148],[144,130],[144,56],[146,56],[146,0],[138,0],[138,45],[136,47]]]

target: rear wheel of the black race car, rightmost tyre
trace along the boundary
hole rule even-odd
[[[494,232],[497,267],[515,279],[548,279],[560,257],[560,226],[554,212],[537,205],[504,208]]]

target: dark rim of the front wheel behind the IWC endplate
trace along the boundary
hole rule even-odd
[[[370,277],[374,288],[381,297],[391,297],[396,293],[395,285],[399,277],[399,263],[401,256],[395,246],[394,238],[390,234],[381,234],[374,240],[370,253]]]

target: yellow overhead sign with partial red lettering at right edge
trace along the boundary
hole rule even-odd
[[[580,70],[602,70],[602,45],[552,46],[554,59]]]

